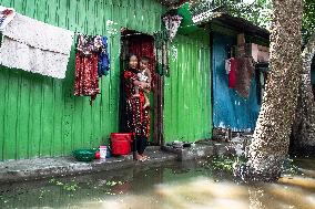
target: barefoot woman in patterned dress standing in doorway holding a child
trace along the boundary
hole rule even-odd
[[[139,81],[138,73],[139,62],[136,55],[129,58],[129,67],[124,71],[124,90],[126,104],[126,127],[129,132],[135,135],[136,159],[145,160],[144,149],[150,136],[150,113],[149,108],[144,108],[144,92],[150,92],[151,85],[146,82]],[[139,87],[139,96],[134,96],[135,86]]]

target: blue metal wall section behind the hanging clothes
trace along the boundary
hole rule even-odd
[[[213,34],[213,126],[230,127],[234,132],[253,130],[260,112],[255,80],[247,100],[228,88],[225,60],[228,48],[235,44],[236,36]]]

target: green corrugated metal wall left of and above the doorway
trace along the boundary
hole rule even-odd
[[[93,106],[73,96],[74,50],[65,80],[0,67],[0,160],[69,155],[95,147],[119,129],[120,28],[160,30],[155,0],[0,0],[47,23],[110,38],[112,69]],[[73,45],[74,49],[74,45]]]

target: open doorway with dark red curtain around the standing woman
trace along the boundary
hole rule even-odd
[[[134,30],[121,30],[121,95],[120,95],[120,132],[128,132],[125,115],[125,90],[123,72],[128,67],[128,58],[135,54],[140,60],[149,58],[149,70],[152,76],[150,100],[150,138],[149,145],[163,145],[163,77],[155,72],[154,38]]]

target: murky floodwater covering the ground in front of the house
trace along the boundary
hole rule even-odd
[[[210,160],[1,185],[0,208],[315,209],[315,159],[295,159],[276,184],[246,185]],[[289,169],[288,169],[289,170]]]

